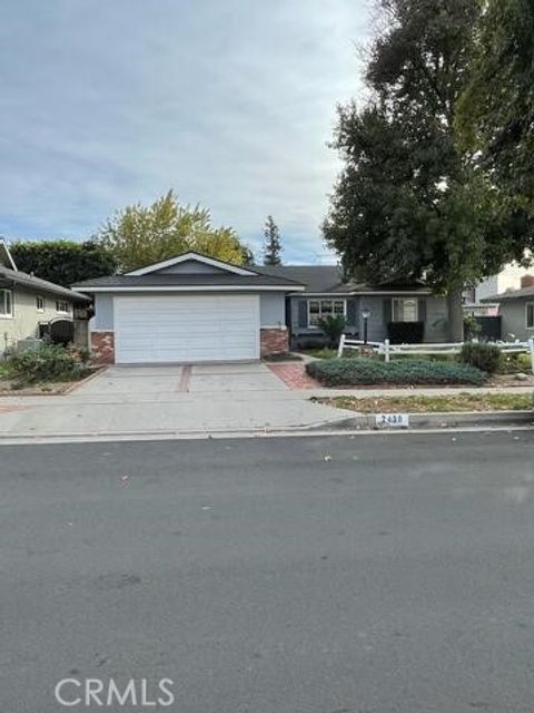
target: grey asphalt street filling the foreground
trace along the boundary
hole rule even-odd
[[[534,710],[534,431],[3,446],[0,508],[1,713]]]

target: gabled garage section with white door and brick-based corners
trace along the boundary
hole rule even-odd
[[[286,295],[298,281],[188,252],[75,285],[95,296],[100,362],[249,361],[286,352]]]

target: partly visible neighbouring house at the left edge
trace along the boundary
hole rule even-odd
[[[20,270],[0,241],[0,355],[21,340],[38,338],[56,320],[73,322],[75,306],[90,299]]]

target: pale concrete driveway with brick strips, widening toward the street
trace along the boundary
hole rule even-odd
[[[112,367],[68,395],[1,399],[0,439],[237,434],[352,416],[310,402],[261,363]]]

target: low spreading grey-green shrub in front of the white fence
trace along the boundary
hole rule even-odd
[[[426,360],[329,359],[306,364],[306,371],[327,387],[365,384],[472,384],[481,385],[486,374],[469,364]]]

